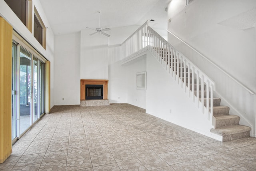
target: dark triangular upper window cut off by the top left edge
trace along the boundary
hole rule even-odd
[[[12,11],[20,18],[23,24],[27,24],[27,1],[26,0],[4,0]]]

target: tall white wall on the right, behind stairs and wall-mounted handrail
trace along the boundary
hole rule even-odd
[[[194,0],[187,6],[185,0],[172,0],[168,5],[168,18],[172,18],[168,30],[255,92],[255,26],[241,30],[251,23],[234,20],[247,16],[255,7],[254,0]],[[230,114],[239,115],[240,124],[250,126],[255,136],[255,94],[248,93],[171,34],[168,42],[214,80],[215,96],[222,99],[221,105],[229,106]]]

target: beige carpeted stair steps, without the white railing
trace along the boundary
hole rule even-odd
[[[187,87],[189,87],[190,91],[195,91],[195,96],[198,95],[198,97],[202,97],[202,93],[204,94],[203,103],[204,106],[207,106],[207,94],[210,96],[210,93],[206,91],[206,85],[204,84],[202,86],[202,80],[196,79],[197,76],[194,76],[192,70],[190,69],[190,72],[188,71],[188,68],[184,67],[184,64],[180,62],[178,59],[175,59],[174,56],[168,56],[168,54],[171,54],[171,52],[167,52],[166,49],[158,49],[154,48],[158,56],[162,58],[162,60],[166,63],[167,66],[171,62],[166,61],[166,59],[171,59],[170,61],[173,61],[172,64],[170,64],[170,69],[173,72],[176,72],[177,75],[179,75],[179,78],[182,80],[184,84],[186,84]],[[186,72],[184,72],[186,70]],[[177,71],[180,71],[182,74],[178,74]],[[186,75],[186,76],[185,76]],[[190,81],[188,81],[190,79]],[[186,80],[186,82],[185,82]],[[188,83],[190,82],[190,84]],[[199,83],[199,86],[197,87],[196,83]],[[198,88],[198,94],[197,94],[197,88]],[[203,91],[202,91],[203,90]],[[208,93],[207,93],[208,92]],[[200,102],[202,102],[202,98],[199,98]],[[222,136],[222,141],[229,141],[233,139],[239,139],[244,137],[250,136],[250,130],[251,128],[244,125],[239,125],[240,117],[237,115],[230,115],[229,114],[229,107],[228,106],[222,106],[220,105],[220,98],[213,97],[213,117],[214,117],[214,128],[212,128],[210,131],[212,133],[215,133],[217,135]],[[208,102],[210,103],[210,101]],[[209,104],[210,105],[210,104]]]

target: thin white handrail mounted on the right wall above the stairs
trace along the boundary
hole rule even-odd
[[[204,56],[203,54],[201,54],[200,52],[198,52],[198,50],[196,50],[195,48],[193,48],[192,46],[190,46],[188,43],[186,43],[184,40],[180,39],[178,36],[176,36],[175,34],[173,34],[170,30],[167,30],[168,33],[172,34],[175,38],[177,38],[178,40],[180,40],[182,43],[184,43],[186,46],[188,46],[189,48],[191,48],[192,50],[194,50],[196,53],[198,53],[202,58],[204,58],[205,60],[207,60],[208,62],[210,62],[213,66],[215,66],[216,68],[218,68],[221,72],[223,72],[224,74],[226,74],[229,78],[231,78],[234,82],[236,82],[237,84],[239,84],[241,87],[243,87],[244,89],[246,89],[246,91],[248,91],[250,94],[255,94],[254,91],[252,91],[250,88],[246,87],[246,85],[242,84],[240,81],[238,81],[236,78],[234,78],[233,76],[231,76],[230,74],[228,74],[228,72],[226,72],[225,70],[223,70],[222,68],[220,68],[220,66],[218,66],[217,64],[215,64],[214,62],[212,62],[212,60],[208,59],[206,56]]]

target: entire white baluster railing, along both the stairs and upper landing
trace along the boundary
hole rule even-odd
[[[120,46],[122,60],[127,60],[149,50],[162,64],[184,92],[208,116],[215,128],[213,117],[213,91],[215,83],[186,56],[144,23]]]

